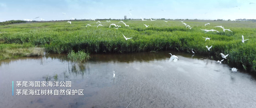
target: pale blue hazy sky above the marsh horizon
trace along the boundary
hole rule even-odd
[[[124,16],[135,19],[256,19],[256,4],[250,2],[256,3],[256,0],[0,0],[0,22],[36,17],[39,17],[34,19],[37,21],[41,18],[45,21],[124,19]]]

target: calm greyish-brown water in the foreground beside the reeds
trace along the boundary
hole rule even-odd
[[[170,52],[179,61],[169,62]],[[0,61],[0,108],[256,108],[253,77],[200,55],[98,54],[82,65],[65,56]],[[72,87],[16,87],[16,81],[71,81]],[[84,95],[18,96],[16,89],[84,89]]]

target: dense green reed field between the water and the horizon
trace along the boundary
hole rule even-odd
[[[16,43],[15,45],[31,44],[31,47],[44,47],[52,53],[69,53],[84,50],[85,52],[141,52],[179,50],[191,53],[201,53],[222,59],[220,53],[229,54],[225,63],[244,67],[247,71],[256,72],[256,23],[254,22],[230,22],[210,20],[185,20],[192,29],[178,20],[141,21],[123,20],[129,27],[125,27],[120,20],[106,22],[98,26],[97,21],[72,21],[66,22],[29,22],[0,26],[1,44]],[[109,28],[110,24],[118,24],[122,27]],[[204,26],[204,24],[210,25]],[[86,27],[87,24],[92,26]],[[144,24],[149,25],[145,27]],[[230,29],[233,32],[224,32],[220,27]],[[200,29],[215,29],[220,31],[207,32]],[[126,37],[132,37],[127,41]],[[249,39],[242,43],[244,39]],[[205,41],[203,37],[210,37]],[[206,45],[212,48],[207,50]],[[0,55],[1,56],[1,55]]]

